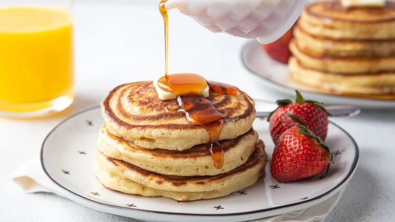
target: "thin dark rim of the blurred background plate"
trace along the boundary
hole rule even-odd
[[[282,88],[286,87],[286,88],[289,89],[289,90],[295,90],[295,88],[292,88],[292,87],[290,87],[290,86],[288,86],[288,85],[286,85],[286,84],[281,84],[281,83],[272,81],[272,80],[266,78],[265,76],[260,75],[259,73],[257,73],[257,72],[255,72],[254,70],[252,70],[252,68],[247,64],[247,61],[246,61],[246,58],[245,58],[244,54],[246,53],[246,50],[247,50],[247,49],[249,49],[250,47],[252,47],[252,46],[254,46],[254,45],[260,46],[260,43],[257,42],[256,40],[252,40],[252,41],[247,42],[247,43],[242,47],[242,50],[241,50],[241,53],[240,53],[240,58],[241,58],[241,61],[242,61],[242,63],[243,63],[243,66],[244,66],[249,72],[253,73],[254,75],[256,75],[256,76],[258,76],[258,77],[260,77],[260,78],[262,78],[262,79],[263,79],[264,81],[266,81],[267,83],[274,84],[274,85],[276,85],[277,87],[282,87]],[[260,47],[259,47],[259,49],[260,49]],[[262,53],[263,53],[263,52],[262,52]],[[273,60],[273,61],[274,61],[274,60]],[[279,62],[277,62],[277,61],[274,61],[274,62],[275,62],[275,63],[279,63]],[[282,64],[282,65],[284,65],[284,64]],[[394,102],[394,101],[395,101],[395,99],[372,99],[372,98],[359,98],[359,97],[355,97],[355,96],[341,96],[341,95],[334,95],[334,94],[329,94],[329,93],[314,92],[314,91],[305,90],[305,89],[299,89],[299,88],[298,88],[298,90],[301,91],[302,93],[303,93],[303,92],[304,92],[304,93],[310,93],[310,94],[317,95],[317,96],[330,96],[330,97],[334,97],[334,98],[348,98],[348,99],[355,99],[355,100],[380,101],[380,102]]]

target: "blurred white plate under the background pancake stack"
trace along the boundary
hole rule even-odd
[[[244,66],[252,73],[265,80],[267,87],[289,96],[295,97],[295,86],[288,83],[288,65],[271,59],[257,41],[251,41],[242,50]],[[395,108],[395,100],[368,99],[351,96],[331,95],[299,89],[305,98],[324,101],[326,104],[355,105],[362,108]]]

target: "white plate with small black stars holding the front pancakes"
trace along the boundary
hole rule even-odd
[[[271,177],[268,161],[265,178],[248,189],[213,200],[177,202],[163,197],[123,194],[101,185],[92,173],[92,164],[102,124],[100,107],[60,123],[43,142],[43,169],[67,198],[98,211],[145,221],[245,221],[310,207],[345,187],[359,159],[354,140],[331,123],[327,143],[332,147],[336,164],[331,165],[328,177],[280,183]],[[273,144],[268,123],[257,119],[254,128],[266,143],[270,159]]]

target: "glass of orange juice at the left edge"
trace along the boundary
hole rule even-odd
[[[0,116],[38,117],[74,97],[72,0],[0,1]]]

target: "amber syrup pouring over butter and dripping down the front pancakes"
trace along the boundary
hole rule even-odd
[[[205,127],[210,135],[207,150],[213,158],[215,167],[221,169],[224,163],[224,151],[218,142],[225,118],[207,98],[200,95],[200,92],[207,85],[209,85],[210,92],[217,94],[235,95],[237,90],[224,84],[208,84],[206,79],[198,74],[168,74],[169,17],[165,8],[166,2],[167,0],[161,0],[159,4],[159,11],[165,23],[165,76],[160,78],[157,84],[164,91],[176,94],[180,107],[178,112],[185,114],[189,124]]]

